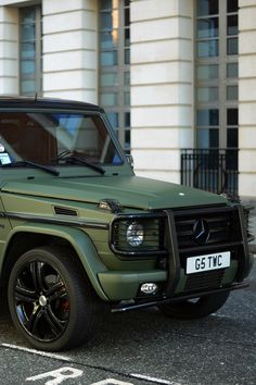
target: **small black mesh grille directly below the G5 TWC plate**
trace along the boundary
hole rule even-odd
[[[187,278],[184,291],[195,291],[220,287],[225,270],[217,270],[204,273],[190,274]]]

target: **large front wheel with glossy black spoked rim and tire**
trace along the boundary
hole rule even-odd
[[[9,281],[16,328],[36,349],[60,351],[92,336],[97,296],[72,250],[42,247],[25,252]]]

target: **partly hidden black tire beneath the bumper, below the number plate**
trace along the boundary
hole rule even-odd
[[[199,297],[177,303],[161,303],[158,309],[174,319],[193,320],[207,316],[219,310],[229,297],[229,291]]]

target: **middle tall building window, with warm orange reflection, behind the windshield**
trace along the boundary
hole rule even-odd
[[[130,152],[130,1],[99,1],[100,104]]]

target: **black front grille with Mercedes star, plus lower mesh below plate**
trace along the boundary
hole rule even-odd
[[[243,258],[240,211],[235,207],[177,211],[174,212],[174,226],[176,252],[184,271],[191,257],[230,251],[231,260]],[[226,269],[219,269],[187,274],[184,291],[220,287]]]

